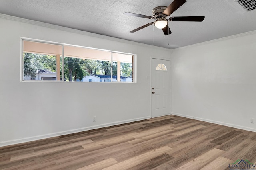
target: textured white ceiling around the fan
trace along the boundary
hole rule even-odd
[[[154,7],[172,1],[0,0],[0,13],[169,49],[256,30],[256,10],[242,13],[228,0],[187,0],[171,16],[205,16],[204,21],[169,22],[167,36],[154,25],[130,33],[153,20],[124,12],[152,16]]]

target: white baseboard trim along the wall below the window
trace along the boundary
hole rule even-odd
[[[31,142],[31,141],[36,141],[36,140],[40,140],[40,139],[56,137],[56,136],[60,136],[60,135],[68,135],[68,134],[78,133],[78,132],[82,132],[82,131],[89,131],[89,130],[93,130],[93,129],[99,129],[102,127],[121,125],[124,123],[130,123],[130,122],[140,121],[140,120],[145,120],[145,119],[150,119],[150,118],[151,118],[150,116],[140,117],[140,118],[136,118],[136,119],[129,119],[129,120],[125,120],[125,121],[116,121],[116,122],[112,122],[112,123],[105,123],[105,124],[96,125],[96,126],[83,127],[83,128],[72,129],[72,130],[68,130],[68,131],[61,131],[61,132],[57,132],[57,133],[49,133],[49,134],[45,134],[45,135],[38,135],[38,136],[33,136],[33,137],[14,139],[14,140],[10,140],[10,141],[2,141],[2,142],[0,142],[0,147],[4,147],[4,146],[8,146],[8,145],[15,145],[15,144],[19,144],[19,143],[25,143],[25,142]]]

